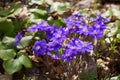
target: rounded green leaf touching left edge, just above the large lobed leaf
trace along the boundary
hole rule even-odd
[[[13,49],[0,50],[0,58],[2,60],[9,60],[16,56],[16,53]]]

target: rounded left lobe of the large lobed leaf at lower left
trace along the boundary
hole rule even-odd
[[[6,60],[3,62],[3,68],[8,74],[13,74],[17,71],[20,71],[22,68],[22,64],[18,59],[11,59],[11,60]]]

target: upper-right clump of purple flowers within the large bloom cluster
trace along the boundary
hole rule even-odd
[[[93,39],[100,39],[103,36],[105,23],[108,22],[100,14],[87,18],[82,14],[74,14],[65,19],[68,30],[83,36],[92,36]]]

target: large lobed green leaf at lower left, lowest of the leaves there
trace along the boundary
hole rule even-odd
[[[16,59],[5,60],[3,62],[3,67],[5,71],[9,74],[20,71],[22,65],[26,68],[31,68],[32,63],[26,53],[19,52]]]

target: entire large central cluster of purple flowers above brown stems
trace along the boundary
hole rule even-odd
[[[49,25],[46,21],[30,26],[28,32],[44,32],[45,38],[36,41],[32,48],[36,56],[49,55],[53,59],[63,59],[70,61],[75,56],[90,52],[93,45],[90,40],[86,41],[84,37],[100,39],[106,28],[106,18],[96,14],[94,17],[87,17],[80,13],[71,15],[64,19],[65,27]]]

